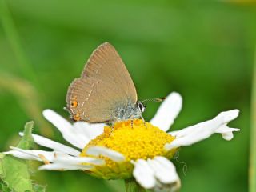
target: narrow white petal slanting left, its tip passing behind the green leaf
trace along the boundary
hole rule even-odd
[[[20,135],[23,136],[22,133],[20,133]],[[63,153],[72,154],[74,156],[78,156],[80,154],[78,150],[75,150],[70,146],[65,146],[62,143],[54,142],[53,140],[42,137],[38,134],[32,134],[32,137],[34,138],[34,142],[36,142],[40,146],[46,146],[50,149],[62,151]]]

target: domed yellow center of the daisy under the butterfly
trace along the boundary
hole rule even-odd
[[[104,167],[97,166],[94,176],[101,178],[129,178],[132,174],[133,164],[139,158],[148,159],[155,156],[172,158],[176,149],[166,151],[164,146],[175,139],[149,122],[141,119],[116,122],[114,126],[105,126],[104,133],[94,138],[82,150],[81,156],[86,157],[89,146],[105,146],[122,154],[125,162],[114,162],[110,158],[100,156],[106,161]]]

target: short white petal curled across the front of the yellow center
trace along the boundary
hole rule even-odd
[[[86,150],[86,154],[94,155],[95,157],[98,157],[99,155],[106,156],[114,162],[123,162],[125,160],[125,157],[122,154],[103,146],[90,146]]]

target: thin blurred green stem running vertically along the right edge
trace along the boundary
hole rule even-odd
[[[251,95],[249,191],[256,192],[256,50]]]

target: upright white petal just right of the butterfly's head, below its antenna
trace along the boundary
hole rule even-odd
[[[180,94],[173,92],[162,102],[150,123],[166,131],[174,123],[174,119],[178,116],[181,109],[182,97]]]

